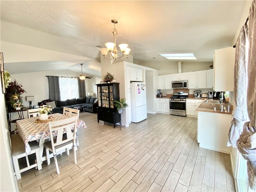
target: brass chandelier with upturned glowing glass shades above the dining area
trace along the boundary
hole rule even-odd
[[[112,19],[111,22],[114,23],[114,29],[112,30],[112,33],[114,35],[114,43],[112,43],[112,42],[106,43],[105,45],[106,45],[107,48],[101,48],[100,51],[101,51],[102,55],[104,56],[104,58],[106,58],[108,60],[114,59],[114,61],[115,61],[116,58],[118,58],[118,59],[127,58],[127,55],[130,52],[130,49],[127,48],[128,44],[120,44],[120,45],[118,45],[120,47],[120,50],[123,53],[122,56],[118,57],[118,50],[116,49],[117,30],[116,30],[116,27],[115,27],[115,24],[118,23],[118,21],[115,20],[115,19]],[[110,52],[110,58],[106,57],[108,55],[108,52]]]

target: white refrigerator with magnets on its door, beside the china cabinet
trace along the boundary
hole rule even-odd
[[[131,83],[131,113],[132,122],[138,123],[147,118],[146,83]]]

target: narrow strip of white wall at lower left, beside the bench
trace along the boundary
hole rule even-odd
[[[12,168],[9,145],[8,122],[6,116],[4,94],[0,88],[0,191],[18,191],[18,184]]]

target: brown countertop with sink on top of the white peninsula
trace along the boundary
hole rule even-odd
[[[210,113],[221,113],[221,114],[232,114],[233,105],[229,102],[224,103],[205,103],[202,102],[196,111],[210,112]]]

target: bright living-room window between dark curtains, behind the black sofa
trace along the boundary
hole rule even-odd
[[[79,98],[78,78],[60,77],[60,99]]]

